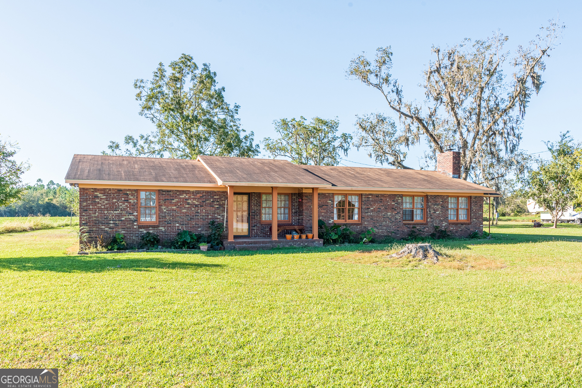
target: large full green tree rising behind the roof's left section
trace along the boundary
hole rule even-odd
[[[254,133],[242,136],[239,105],[232,107],[224,99],[225,88],[217,87],[217,73],[204,63],[198,69],[190,55],[182,54],[169,64],[166,72],[159,63],[151,81],[136,80],[136,100],[140,116],[156,127],[151,134],[138,138],[127,135],[125,152],[118,142],[111,141],[109,153],[103,155],[169,156],[196,159],[198,155],[254,157],[259,153],[253,145]]]

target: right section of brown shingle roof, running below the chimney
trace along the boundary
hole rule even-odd
[[[338,187],[423,190],[492,191],[463,179],[455,179],[427,170],[396,170],[395,168],[301,166],[305,170]]]

